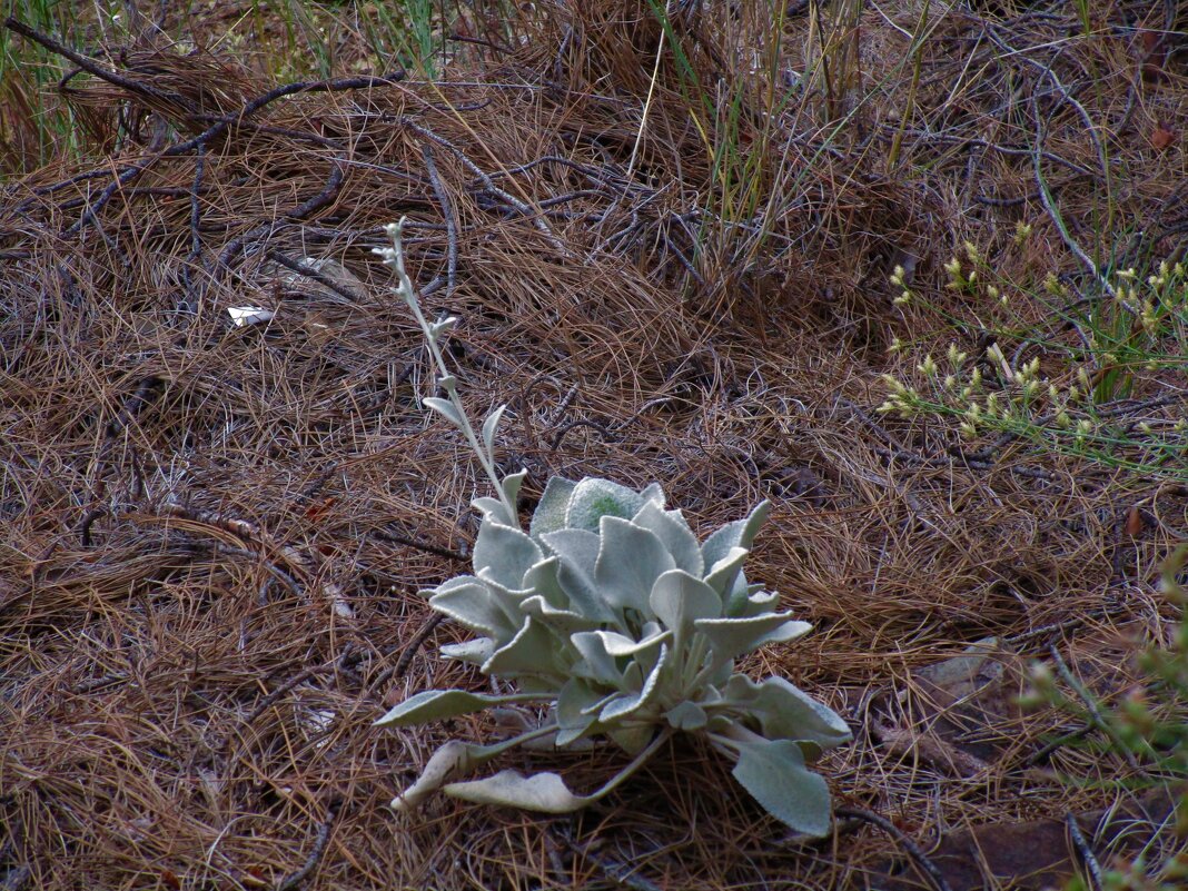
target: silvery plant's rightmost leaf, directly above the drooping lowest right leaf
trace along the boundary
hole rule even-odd
[[[746,675],[734,675],[722,693],[753,715],[769,739],[813,742],[821,748],[834,748],[853,739],[841,715],[782,677],[756,683]]]

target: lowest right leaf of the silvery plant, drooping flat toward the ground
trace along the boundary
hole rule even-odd
[[[732,740],[739,753],[731,771],[739,784],[773,817],[798,833],[829,833],[829,786],[804,766],[800,746],[784,739]]]

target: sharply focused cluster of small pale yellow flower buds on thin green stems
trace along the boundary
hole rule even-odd
[[[1022,222],[1016,226],[1017,245],[1030,235],[1030,226]],[[944,264],[944,272],[950,289],[979,302],[984,298],[1010,312],[1011,302],[1003,292],[1009,283],[996,276],[993,266],[972,242],[961,244]],[[1131,422],[1129,426],[1125,423],[1119,426],[1099,417],[1095,406],[1129,397],[1136,383],[1133,375],[1144,366],[1151,371],[1182,368],[1182,356],[1188,350],[1184,264],[1163,263],[1151,274],[1121,270],[1112,272],[1110,278],[1112,285],[1107,290],[1116,299],[1104,302],[1092,295],[1082,298],[1076,293],[1074,298],[1072,286],[1051,272],[1036,289],[1035,296],[1041,303],[1062,307],[1060,317],[1078,307],[1089,305],[1092,315],[1078,328],[1087,347],[1083,353],[1080,345],[1057,345],[1042,353],[1048,356],[1042,361],[1030,350],[1026,358],[1018,353],[1009,358],[999,343],[991,343],[977,362],[971,362],[954,343],[943,356],[935,353],[914,356],[915,361],[906,366],[914,366],[914,374],[901,374],[898,379],[884,375],[889,392],[877,411],[905,419],[948,416],[966,438],[1006,432],[1053,442],[1061,440],[1078,450],[1114,449],[1129,441],[1144,449],[1171,449],[1165,451],[1169,456],[1182,454],[1182,434],[1188,430],[1188,421],[1151,418],[1150,423]],[[895,301],[897,305],[916,298],[909,286],[910,276],[902,266],[896,266],[890,282],[901,291]],[[1034,316],[1016,318],[1007,326],[998,329],[1003,331],[1001,342],[1018,342],[1020,326],[1023,329],[1034,326]],[[1031,342],[1042,345],[1043,341]],[[895,337],[887,353],[906,359],[912,355],[914,347]],[[1048,368],[1042,367],[1044,364]],[[1053,374],[1055,381],[1045,377],[1045,372]]]

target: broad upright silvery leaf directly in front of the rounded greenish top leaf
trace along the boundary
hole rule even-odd
[[[646,615],[656,580],[676,568],[672,555],[655,532],[618,517],[602,517],[599,538],[594,583],[602,599],[615,609]]]

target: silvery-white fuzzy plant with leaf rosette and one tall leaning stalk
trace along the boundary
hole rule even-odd
[[[407,727],[532,703],[546,707],[546,718],[530,727],[520,715],[524,732],[494,745],[447,742],[392,807],[415,808],[441,789],[472,802],[573,811],[607,795],[683,732],[702,735],[734,760],[734,777],[776,817],[797,832],[826,834],[829,790],[805,763],[847,742],[849,728],[782,677],[757,683],[734,671],[739,657],[810,630],[776,612],[778,596],[748,584],[742,573],[767,504],[699,543],[681,511],[665,510],[656,484],[636,492],[601,479],[555,476],[525,532],[516,499],[526,472],[503,480],[495,472],[505,406],[475,434],[438,346],[456,320],[425,320],[404,268],[402,226],[387,227],[392,247],[375,253],[396,271],[398,293],[424,331],[448,397],[423,402],[462,431],[495,492],[474,501],[482,514],[474,575],[424,593],[434,609],[476,634],[443,646],[442,656],[511,681],[516,691],[429,690],[377,725]],[[590,795],[575,795],[551,772],[504,770],[457,781],[514,746],[588,747],[599,737],[633,759]]]

